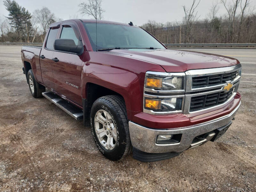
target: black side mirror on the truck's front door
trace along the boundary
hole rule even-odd
[[[79,43],[81,45],[76,45],[73,39],[55,39],[53,47],[54,50],[58,51],[82,54],[84,51],[83,44],[82,42],[78,42],[78,44]]]

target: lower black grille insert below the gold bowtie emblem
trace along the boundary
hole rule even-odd
[[[225,75],[225,74],[223,74]],[[228,92],[211,93],[202,96],[191,97],[190,111],[197,111],[225,103],[234,92],[235,87]]]

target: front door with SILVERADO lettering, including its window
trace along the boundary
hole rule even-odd
[[[73,39],[76,44],[83,44],[75,21],[63,22],[60,26],[60,39]],[[53,76],[56,92],[82,106],[81,66],[84,54],[57,51],[52,58],[58,59],[53,64]]]

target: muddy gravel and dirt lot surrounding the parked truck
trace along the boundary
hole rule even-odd
[[[31,96],[20,46],[1,46],[0,191],[256,191],[256,65],[243,66],[241,108],[217,142],[154,163],[112,162],[89,127]]]

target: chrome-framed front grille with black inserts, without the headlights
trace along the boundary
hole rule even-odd
[[[186,91],[184,102],[184,114],[191,114],[205,111],[212,111],[222,108],[236,95],[240,74],[241,64],[211,69],[195,69],[186,71]],[[236,73],[238,72],[238,73]],[[193,87],[193,78],[201,79],[205,84],[199,87]],[[209,85],[209,77],[219,78],[219,84]],[[217,81],[216,81],[217,82]],[[229,91],[225,91],[224,87],[232,84]],[[201,102],[200,102],[201,101]]]

